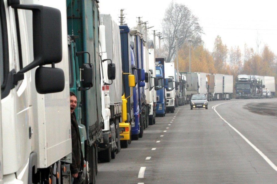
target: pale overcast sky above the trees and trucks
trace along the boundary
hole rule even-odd
[[[171,1],[160,0],[99,0],[101,14],[111,14],[118,22],[120,9],[125,9],[125,22],[129,27],[137,24],[137,17],[148,21],[150,30],[162,31],[161,20]],[[256,39],[260,42],[259,52],[265,44],[277,54],[277,2],[263,0],[174,0],[186,5],[199,18],[205,34],[205,47],[213,50],[217,35],[228,49],[239,46],[242,53],[244,44],[257,51]],[[119,25],[119,23],[118,23]],[[153,36],[148,39],[153,39]]]

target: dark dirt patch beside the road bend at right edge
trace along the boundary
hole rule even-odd
[[[276,103],[249,103],[244,105],[243,108],[261,115],[277,116]]]

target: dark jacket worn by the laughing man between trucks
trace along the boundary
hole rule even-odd
[[[71,114],[71,141],[72,141],[72,164],[70,165],[71,174],[81,172],[84,167],[84,158],[81,148],[81,139],[76,121],[75,112]]]

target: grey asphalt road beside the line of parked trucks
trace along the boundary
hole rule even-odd
[[[96,182],[277,183],[277,116],[257,113],[270,111],[267,104],[274,112],[277,98],[178,107],[110,163],[98,163]]]

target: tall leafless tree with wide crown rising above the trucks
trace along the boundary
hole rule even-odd
[[[162,20],[162,26],[163,35],[167,36],[165,40],[167,62],[172,61],[176,54],[176,37],[183,36],[177,40],[178,46],[183,45],[187,39],[192,40],[192,45],[202,43],[203,28],[200,27],[198,18],[183,4],[173,1],[170,3]]]

